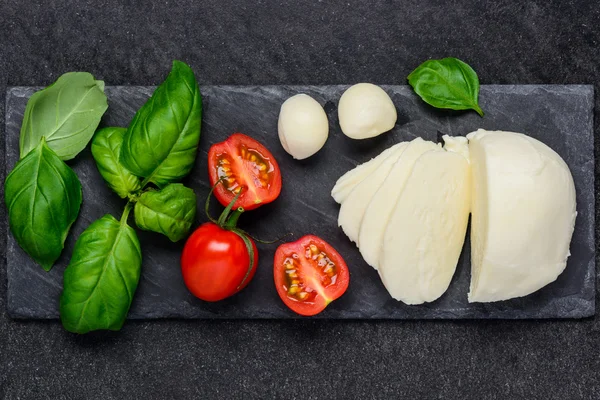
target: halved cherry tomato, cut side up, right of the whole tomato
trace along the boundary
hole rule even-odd
[[[342,256],[323,239],[307,235],[275,252],[275,287],[292,311],[311,316],[344,294],[350,283]]]

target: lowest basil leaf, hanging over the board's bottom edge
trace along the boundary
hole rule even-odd
[[[135,230],[105,215],[77,239],[65,269],[60,319],[66,330],[119,330],[140,279],[142,252]]]

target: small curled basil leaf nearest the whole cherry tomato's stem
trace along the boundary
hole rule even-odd
[[[196,194],[180,183],[144,192],[135,203],[137,226],[162,233],[173,242],[187,235],[195,217]]]

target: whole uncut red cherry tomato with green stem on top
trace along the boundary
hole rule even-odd
[[[219,301],[245,288],[258,265],[256,245],[248,240],[254,252],[250,270],[250,255],[238,234],[212,222],[196,229],[181,255],[181,272],[189,291],[202,300]]]

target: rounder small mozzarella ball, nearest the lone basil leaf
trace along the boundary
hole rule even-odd
[[[342,132],[352,139],[367,139],[389,131],[396,124],[396,107],[379,86],[359,83],[342,94],[338,106]]]

